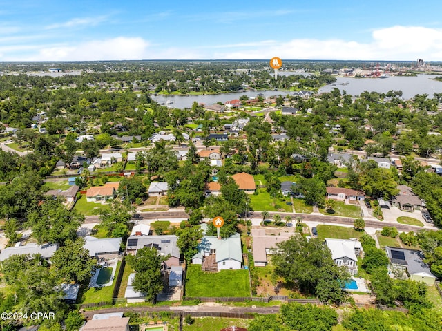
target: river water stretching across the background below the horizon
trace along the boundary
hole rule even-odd
[[[300,73],[282,72],[283,75],[299,75]],[[433,80],[431,78],[436,75],[417,75],[416,77],[401,77],[391,76],[388,78],[349,78],[337,77],[335,86],[332,84],[320,88],[320,93],[332,91],[333,88],[338,88],[340,91],[346,91],[350,95],[359,95],[363,91],[376,91],[387,93],[390,90],[401,90],[404,99],[410,99],[416,94],[426,93],[428,97],[433,97],[433,93],[442,93],[442,82]],[[347,84],[348,82],[348,84]],[[345,84],[345,85],[342,85]],[[247,91],[236,93],[220,93],[210,95],[156,95],[153,100],[160,104],[169,102],[169,106],[173,108],[191,108],[194,101],[199,104],[215,104],[217,102],[226,102],[233,99],[239,99],[241,95],[248,97],[257,97],[258,94],[264,97],[271,97],[273,95],[287,95],[293,94],[288,91]]]

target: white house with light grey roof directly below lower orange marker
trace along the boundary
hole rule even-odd
[[[234,234],[229,238],[202,237],[198,245],[198,253],[193,256],[192,263],[202,265],[202,269],[206,271],[241,269],[240,234]]]

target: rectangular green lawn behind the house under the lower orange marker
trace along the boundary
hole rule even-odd
[[[186,274],[186,296],[250,296],[249,272],[202,272],[201,265],[189,265]]]

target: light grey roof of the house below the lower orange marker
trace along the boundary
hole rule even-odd
[[[216,262],[232,259],[242,262],[241,238],[233,234],[229,238],[218,239],[216,236],[204,236],[198,245],[198,253],[193,258],[202,258],[204,252],[216,251]]]

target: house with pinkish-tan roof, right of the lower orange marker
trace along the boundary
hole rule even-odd
[[[283,243],[289,240],[294,234],[281,231],[278,236],[268,235],[265,229],[252,229],[252,249],[253,261],[255,267],[265,267],[268,263],[268,256],[273,254],[274,249],[277,248],[278,243]]]

